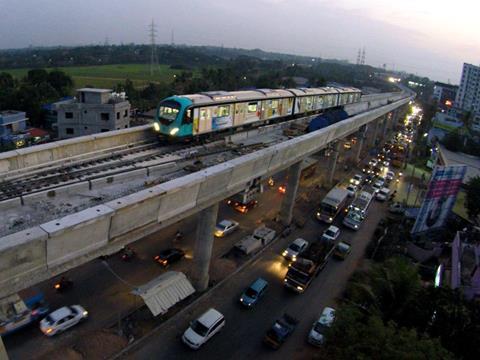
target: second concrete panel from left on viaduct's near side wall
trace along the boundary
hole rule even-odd
[[[66,270],[90,260],[108,243],[112,215],[113,209],[99,205],[40,225],[48,233],[48,268]]]

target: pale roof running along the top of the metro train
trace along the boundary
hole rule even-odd
[[[343,92],[360,92],[355,88],[300,88],[300,89],[255,89],[243,91],[206,91],[198,94],[179,95],[190,100],[194,105],[230,103],[262,99],[278,99],[293,96],[338,94]]]

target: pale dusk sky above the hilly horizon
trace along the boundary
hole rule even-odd
[[[480,63],[473,0],[0,0],[0,48],[158,43],[224,45],[356,61],[458,83]]]

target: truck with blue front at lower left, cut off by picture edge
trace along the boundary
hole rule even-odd
[[[48,304],[42,293],[32,293],[25,300],[18,294],[2,299],[0,336],[6,336],[40,320],[48,311]]]

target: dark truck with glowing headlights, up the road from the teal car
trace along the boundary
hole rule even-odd
[[[289,265],[283,280],[285,287],[296,293],[303,293],[328,263],[334,249],[335,244],[332,241],[320,239],[310,244],[310,247],[297,257],[297,261]]]

